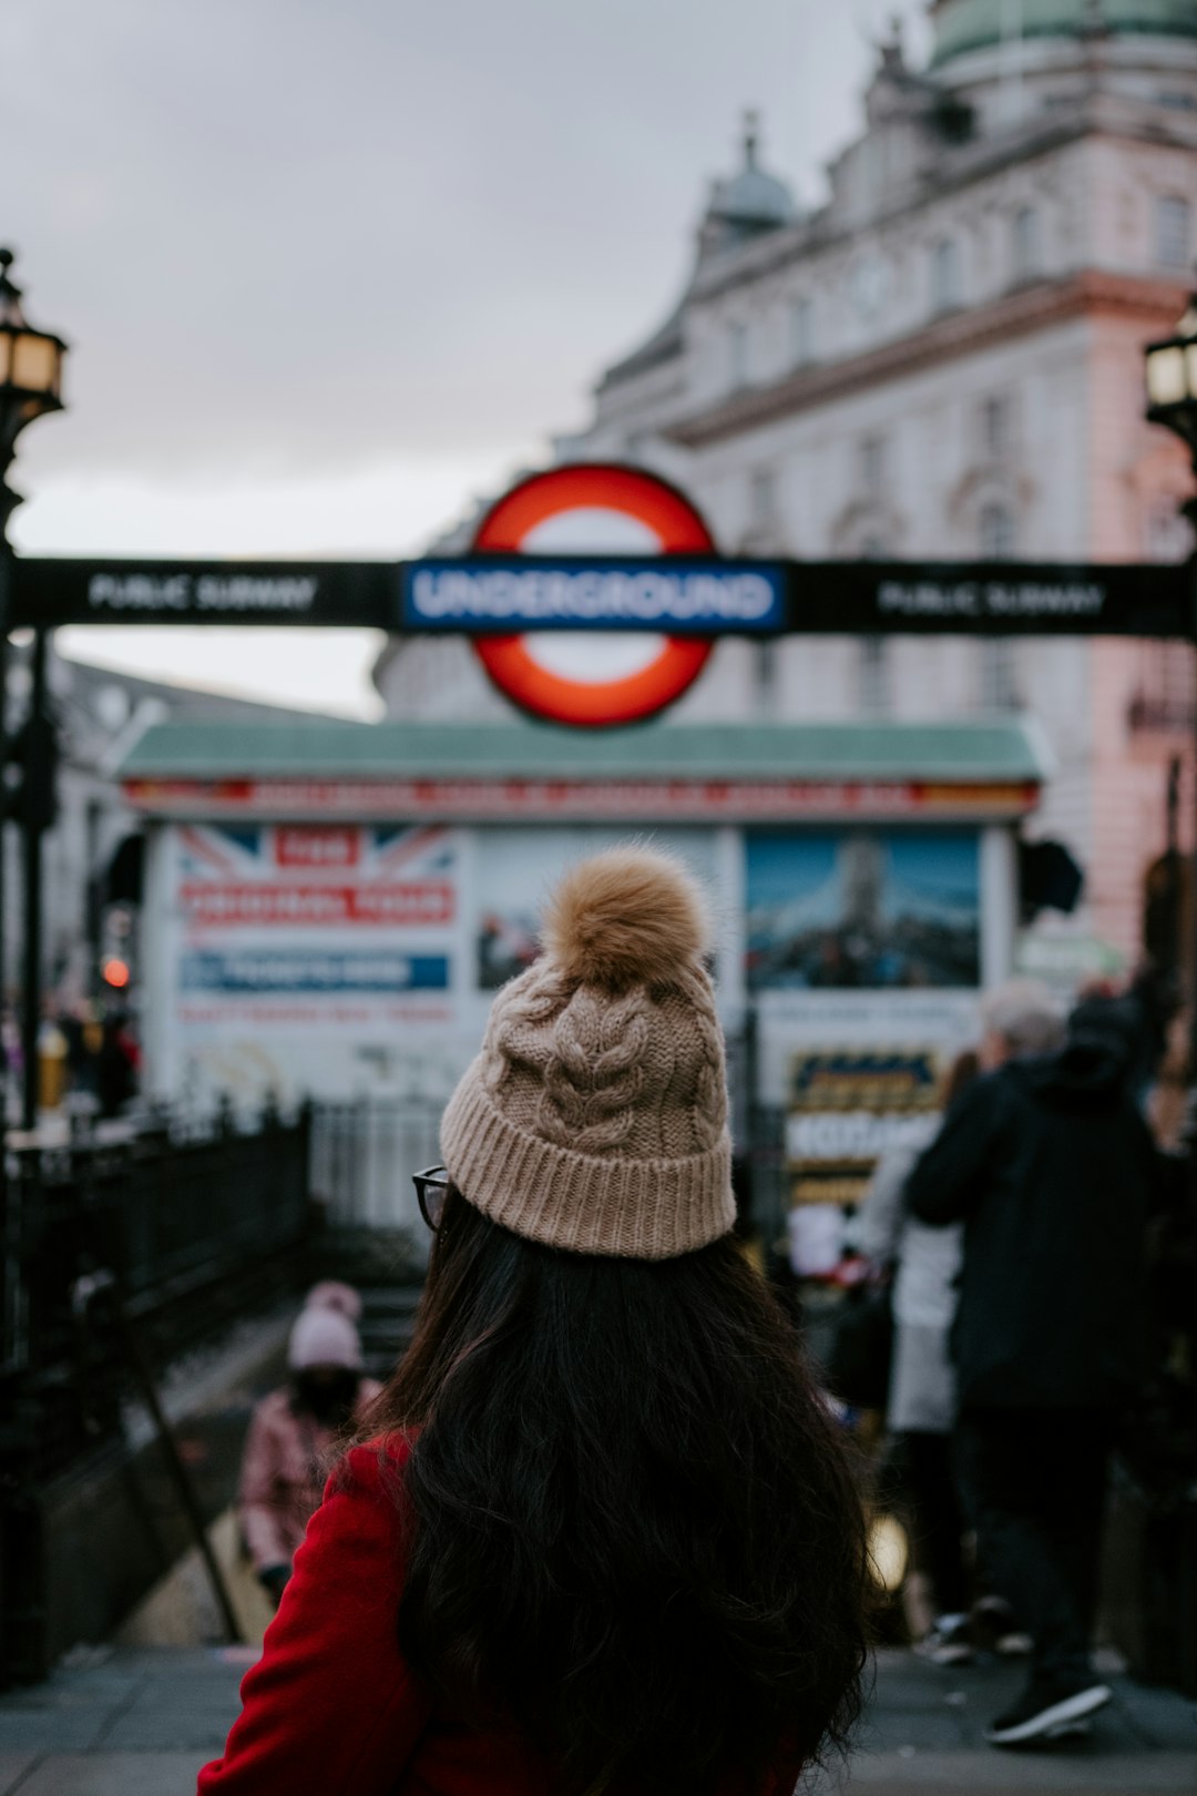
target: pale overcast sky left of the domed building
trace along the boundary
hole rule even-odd
[[[74,345],[38,553],[400,555],[587,417],[745,106],[800,199],[922,0],[9,0],[0,241]],[[366,713],[361,634],[66,632]]]

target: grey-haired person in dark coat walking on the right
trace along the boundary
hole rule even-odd
[[[1143,1378],[1156,1151],[1109,1036],[1050,993],[983,1004],[982,1065],[906,1182],[910,1212],[964,1223],[951,1329],[957,1451],[985,1577],[1034,1636],[1030,1681],[987,1733],[1025,1746],[1111,1699],[1089,1656],[1105,1480]]]

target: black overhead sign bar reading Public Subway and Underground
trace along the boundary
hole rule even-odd
[[[684,569],[687,557],[669,557]],[[695,560],[696,580],[678,611],[660,611],[650,594],[651,564],[641,568],[644,602],[626,585],[635,568],[619,557],[520,557],[540,577],[535,614],[528,594],[502,611],[490,596],[485,614],[461,621],[422,620],[413,605],[424,569],[477,575],[511,568],[510,559],[470,555],[429,562],[221,562],[221,560],[74,560],[23,559],[13,569],[13,629],[57,629],[65,623],[253,623],[318,629],[422,632],[456,629],[470,636],[520,630],[594,629],[664,630],[669,636],[734,636],[763,627],[779,636],[1158,636],[1193,638],[1195,577],[1192,564],[1075,562],[797,562]],[[639,568],[639,564],[637,564]],[[723,621],[707,611],[702,621],[684,609],[702,589],[700,568],[725,582],[738,571],[763,578],[781,594],[768,623],[739,623],[734,605]],[[587,585],[585,577],[596,580]],[[578,594],[610,582],[621,600],[614,614],[578,614]],[[623,585],[621,585],[623,582]],[[470,582],[463,582],[468,585]],[[472,582],[477,585],[477,582]],[[511,585],[511,582],[508,582]],[[528,582],[517,582],[520,591]],[[660,580],[657,580],[660,585]],[[515,587],[511,587],[515,589]],[[747,587],[745,587],[747,589]],[[502,582],[492,582],[492,593]],[[553,593],[564,593],[560,614]],[[712,587],[714,591],[714,587]],[[736,589],[734,589],[736,591]],[[572,594],[572,598],[569,596]],[[718,594],[716,594],[718,598]],[[513,602],[515,603],[515,602]],[[589,600],[587,600],[589,603]],[[637,616],[637,609],[642,612]],[[718,611],[718,605],[716,605]]]

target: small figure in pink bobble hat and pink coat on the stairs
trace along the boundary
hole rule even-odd
[[[262,1397],[240,1462],[240,1532],[260,1584],[278,1604],[303,1532],[319,1507],[328,1460],[380,1385],[363,1372],[361,1297],[325,1281],[307,1295],[291,1340],[291,1381]]]

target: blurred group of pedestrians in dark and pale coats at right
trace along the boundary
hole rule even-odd
[[[915,1651],[1028,1654],[998,1744],[1080,1731],[1109,1701],[1091,1640],[1114,1455],[1163,1501],[1190,1475],[1181,1031],[1150,981],[1070,1017],[1034,982],[991,993],[935,1139],[883,1157],[860,1219],[831,1383],[885,1413]]]

